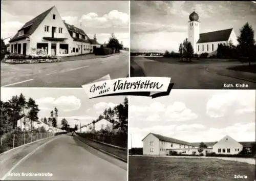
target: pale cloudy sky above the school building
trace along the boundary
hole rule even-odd
[[[133,96],[129,148],[143,147],[150,132],[187,142],[215,142],[225,135],[255,141],[255,95],[255,90],[173,89],[155,99]]]

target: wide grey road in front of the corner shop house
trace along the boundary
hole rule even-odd
[[[72,58],[72,57],[71,57]],[[1,86],[11,87],[81,87],[110,74],[111,79],[129,75],[129,53],[121,52],[104,58],[38,64],[1,62]]]

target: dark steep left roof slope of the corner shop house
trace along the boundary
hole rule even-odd
[[[53,8],[54,6],[48,9],[47,11],[39,14],[38,16],[31,19],[30,21],[26,22],[26,24],[20,30],[28,28],[28,31],[22,36],[18,36],[18,32],[17,32],[16,35],[9,42],[13,42],[13,41],[17,41],[17,40],[29,37],[37,29],[37,27],[41,24],[42,20],[45,19],[45,17]]]

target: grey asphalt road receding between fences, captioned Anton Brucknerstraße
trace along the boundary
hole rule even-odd
[[[7,176],[5,180],[127,180],[127,164],[106,155],[69,135],[59,135],[26,160],[11,174],[50,173],[52,176]]]

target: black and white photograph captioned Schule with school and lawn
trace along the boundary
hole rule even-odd
[[[129,180],[255,180],[255,90],[129,100]]]

